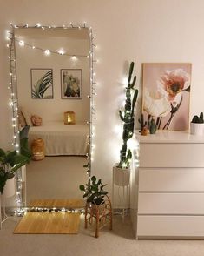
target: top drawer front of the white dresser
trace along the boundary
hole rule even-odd
[[[204,144],[141,144],[141,167],[204,167]]]

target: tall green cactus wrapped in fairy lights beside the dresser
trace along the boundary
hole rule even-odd
[[[134,70],[134,62],[131,62],[128,71],[128,86],[126,87],[126,102],[125,109],[119,111],[120,118],[123,122],[123,132],[122,132],[122,149],[120,151],[120,163],[118,167],[128,168],[130,160],[132,158],[132,152],[128,149],[127,142],[129,138],[132,138],[134,133],[134,123],[135,123],[135,103],[138,96],[138,89],[135,89],[136,76],[133,77],[132,74]],[[131,81],[132,80],[132,81]],[[134,91],[132,97],[132,91]]]

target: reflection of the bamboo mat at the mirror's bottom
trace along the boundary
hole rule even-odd
[[[85,205],[83,199],[35,199],[29,204],[29,207],[64,207],[64,208],[83,208]]]

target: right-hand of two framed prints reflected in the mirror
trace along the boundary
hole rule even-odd
[[[82,70],[61,70],[61,96],[63,99],[82,99]]]

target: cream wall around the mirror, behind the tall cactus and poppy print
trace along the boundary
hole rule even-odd
[[[140,88],[143,62],[192,63],[191,116],[204,110],[203,10],[203,0],[1,0],[0,145],[10,145],[9,76],[4,42],[9,22],[62,25],[86,21],[93,28],[98,45],[95,57],[99,59],[93,170],[111,189],[112,165],[119,158],[121,145],[115,125],[120,125],[117,111],[122,104],[122,81],[128,62],[135,61]],[[141,90],[137,115],[140,105]]]

